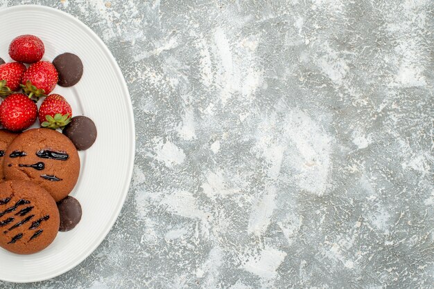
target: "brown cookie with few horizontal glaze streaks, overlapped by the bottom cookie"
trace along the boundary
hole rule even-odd
[[[31,180],[46,189],[54,200],[65,198],[77,183],[80,158],[69,138],[52,129],[29,129],[6,150],[6,180]]]

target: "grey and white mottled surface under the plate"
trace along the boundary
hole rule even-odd
[[[103,39],[127,201],[60,277],[1,288],[434,288],[434,1],[5,1]]]

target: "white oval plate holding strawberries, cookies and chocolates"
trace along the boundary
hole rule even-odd
[[[134,118],[116,60],[103,41],[78,19],[44,6],[15,6],[0,10],[0,27],[0,57],[6,62],[12,61],[8,55],[10,41],[23,34],[37,35],[44,41],[45,60],[52,61],[64,52],[82,59],[80,82],[71,88],[56,86],[53,93],[66,97],[73,115],[92,118],[98,129],[94,145],[80,151],[80,177],[71,192],[83,209],[77,227],[59,232],[54,242],[37,254],[21,256],[0,248],[1,280],[42,281],[85,260],[116,221],[132,176]]]

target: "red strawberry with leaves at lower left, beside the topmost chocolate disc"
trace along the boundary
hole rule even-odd
[[[53,91],[58,77],[58,71],[51,62],[36,62],[27,68],[21,86],[29,97],[39,98]]]

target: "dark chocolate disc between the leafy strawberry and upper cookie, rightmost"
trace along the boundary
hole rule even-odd
[[[64,127],[62,133],[73,142],[79,151],[89,149],[96,140],[95,124],[84,115],[71,118],[71,122]]]

